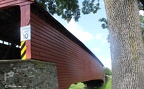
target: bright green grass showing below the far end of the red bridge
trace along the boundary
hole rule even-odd
[[[111,86],[112,86],[112,78],[110,78],[108,82],[103,86],[95,89],[112,89]],[[77,83],[77,84],[72,84],[69,89],[85,89],[84,87],[85,85],[83,83]]]

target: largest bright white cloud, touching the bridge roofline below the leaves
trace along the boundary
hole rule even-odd
[[[84,31],[84,28],[77,24],[73,19],[66,24],[65,27],[82,42],[87,42],[93,39],[92,34]]]

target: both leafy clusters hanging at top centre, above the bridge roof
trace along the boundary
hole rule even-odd
[[[57,14],[63,19],[70,21],[72,18],[78,21],[80,14],[96,13],[100,8],[99,0],[84,0],[82,12],[78,0],[36,0],[49,13]]]

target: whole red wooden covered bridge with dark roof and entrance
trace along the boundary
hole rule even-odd
[[[31,38],[20,41],[20,28],[31,29],[23,35]],[[77,82],[98,85],[104,81],[99,59],[33,0],[0,0],[0,59],[56,63],[59,89]]]

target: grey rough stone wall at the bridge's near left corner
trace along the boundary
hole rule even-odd
[[[58,89],[56,65],[36,60],[0,61],[0,89]]]

